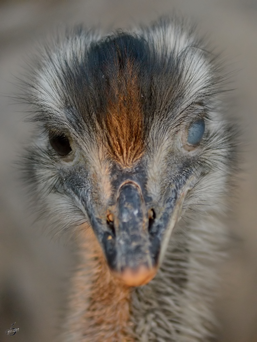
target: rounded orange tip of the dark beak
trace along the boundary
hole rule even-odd
[[[116,273],[116,275],[126,286],[136,287],[148,284],[155,277],[156,273],[157,267],[147,268],[141,265],[136,270],[127,267],[122,273]]]

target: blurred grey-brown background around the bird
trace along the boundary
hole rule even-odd
[[[75,265],[69,237],[52,238],[29,213],[14,161],[33,127],[15,76],[38,42],[83,23],[104,30],[149,23],[173,11],[191,17],[235,70],[228,112],[242,129],[242,171],[228,216],[233,237],[215,306],[219,342],[257,342],[257,0],[0,0],[0,342],[53,341]],[[16,322],[14,337],[5,331]]]

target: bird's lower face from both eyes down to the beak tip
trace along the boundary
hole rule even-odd
[[[108,152],[105,138],[88,149],[85,140],[50,133],[66,195],[90,222],[112,271],[129,286],[144,285],[157,272],[184,198],[196,183],[193,164],[204,126],[197,117],[171,128],[157,138],[156,149],[149,142],[131,165]],[[150,134],[158,135],[153,130]]]

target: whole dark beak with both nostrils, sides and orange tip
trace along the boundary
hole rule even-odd
[[[154,207],[154,220],[149,215],[153,210],[151,199],[145,195],[146,201],[141,187],[132,180],[118,187],[105,222],[91,216],[110,269],[127,286],[145,285],[155,277],[181,215],[189,183],[185,180],[181,188],[167,189],[163,202]]]

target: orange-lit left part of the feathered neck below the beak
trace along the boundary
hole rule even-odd
[[[81,263],[73,277],[66,341],[132,342],[131,288],[116,279],[88,225],[81,226]]]

